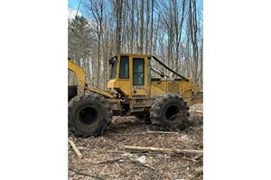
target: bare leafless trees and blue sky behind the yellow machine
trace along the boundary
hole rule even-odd
[[[69,56],[102,89],[117,52],[154,55],[202,89],[202,18],[201,0],[69,0]]]

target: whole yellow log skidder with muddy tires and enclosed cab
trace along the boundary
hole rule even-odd
[[[189,106],[203,102],[203,91],[191,77],[180,75],[152,55],[117,53],[108,63],[109,81],[107,90],[102,90],[88,87],[84,69],[68,60],[77,77],[77,86],[69,87],[69,100],[75,95],[69,102],[70,131],[75,136],[101,135],[112,115],[135,116],[162,130],[183,130]],[[166,75],[159,65],[174,76]]]

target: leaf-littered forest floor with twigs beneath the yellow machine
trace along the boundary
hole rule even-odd
[[[173,179],[203,178],[203,154],[175,151],[128,151],[124,146],[203,150],[203,105],[190,109],[189,127],[163,133],[134,116],[113,118],[98,138],[69,138],[83,155],[77,157],[68,144],[69,180],[77,179]]]

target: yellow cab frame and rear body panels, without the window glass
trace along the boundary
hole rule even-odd
[[[129,57],[129,79],[119,78],[121,56]],[[202,97],[198,97],[197,99],[194,98],[199,92],[199,86],[192,85],[192,78],[188,78],[188,82],[173,77],[162,77],[159,80],[150,81],[152,77],[148,73],[150,66],[148,58],[152,58],[151,55],[118,53],[116,57],[117,78],[109,80],[107,86],[118,92],[122,92],[126,98],[133,99],[134,96],[143,96],[145,99],[150,99],[165,93],[175,93],[180,94],[182,98],[190,104],[202,102]],[[144,58],[145,60],[145,85],[133,85],[133,58]],[[151,84],[149,84],[149,82],[151,82]]]

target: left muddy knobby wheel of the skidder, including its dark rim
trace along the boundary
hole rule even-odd
[[[99,94],[77,95],[69,102],[69,129],[78,137],[102,135],[112,116],[109,103]]]

